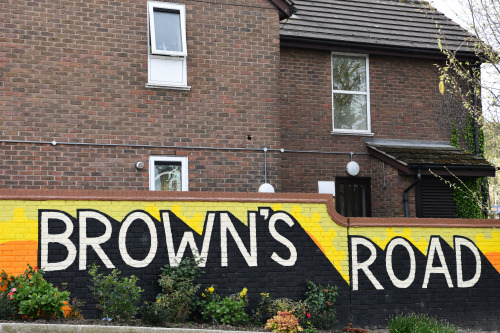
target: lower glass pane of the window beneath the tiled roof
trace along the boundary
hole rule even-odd
[[[334,94],[333,123],[335,129],[368,130],[366,96]]]

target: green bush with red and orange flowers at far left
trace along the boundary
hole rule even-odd
[[[4,294],[17,308],[17,313],[29,318],[53,319],[64,317],[62,307],[69,300],[68,291],[59,291],[43,278],[43,271],[28,265],[24,273],[8,276],[0,274]],[[4,296],[5,297],[5,296]]]

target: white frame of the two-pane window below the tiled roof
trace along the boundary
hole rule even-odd
[[[350,90],[335,90],[333,89],[333,56],[341,55],[341,56],[352,56],[358,58],[365,58],[365,78],[366,78],[366,92],[363,91],[350,91]],[[332,134],[345,134],[345,135],[363,135],[363,136],[373,136],[374,134],[371,132],[371,117],[370,117],[370,57],[368,54],[361,53],[339,53],[332,52],[330,56],[331,61],[331,84],[332,84]],[[366,130],[349,130],[349,129],[340,129],[335,128],[335,103],[334,96],[335,94],[346,94],[346,95],[363,95],[366,96]]]

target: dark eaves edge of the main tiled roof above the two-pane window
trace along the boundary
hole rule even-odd
[[[352,42],[338,42],[313,38],[301,38],[293,36],[280,36],[280,45],[286,47],[296,47],[304,49],[315,50],[328,50],[333,49],[341,52],[356,52],[356,53],[369,53],[369,54],[383,54],[404,57],[419,57],[431,59],[445,59],[445,55],[439,50],[409,48],[409,47],[396,47],[377,44],[364,44]],[[460,60],[480,61],[480,58],[474,52],[457,51],[457,57]]]

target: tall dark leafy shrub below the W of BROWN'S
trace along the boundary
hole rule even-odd
[[[196,279],[201,274],[199,261],[184,259],[178,266],[165,265],[161,270],[158,283],[162,292],[157,297],[159,306],[169,322],[185,321],[195,307],[195,295],[199,285]]]

